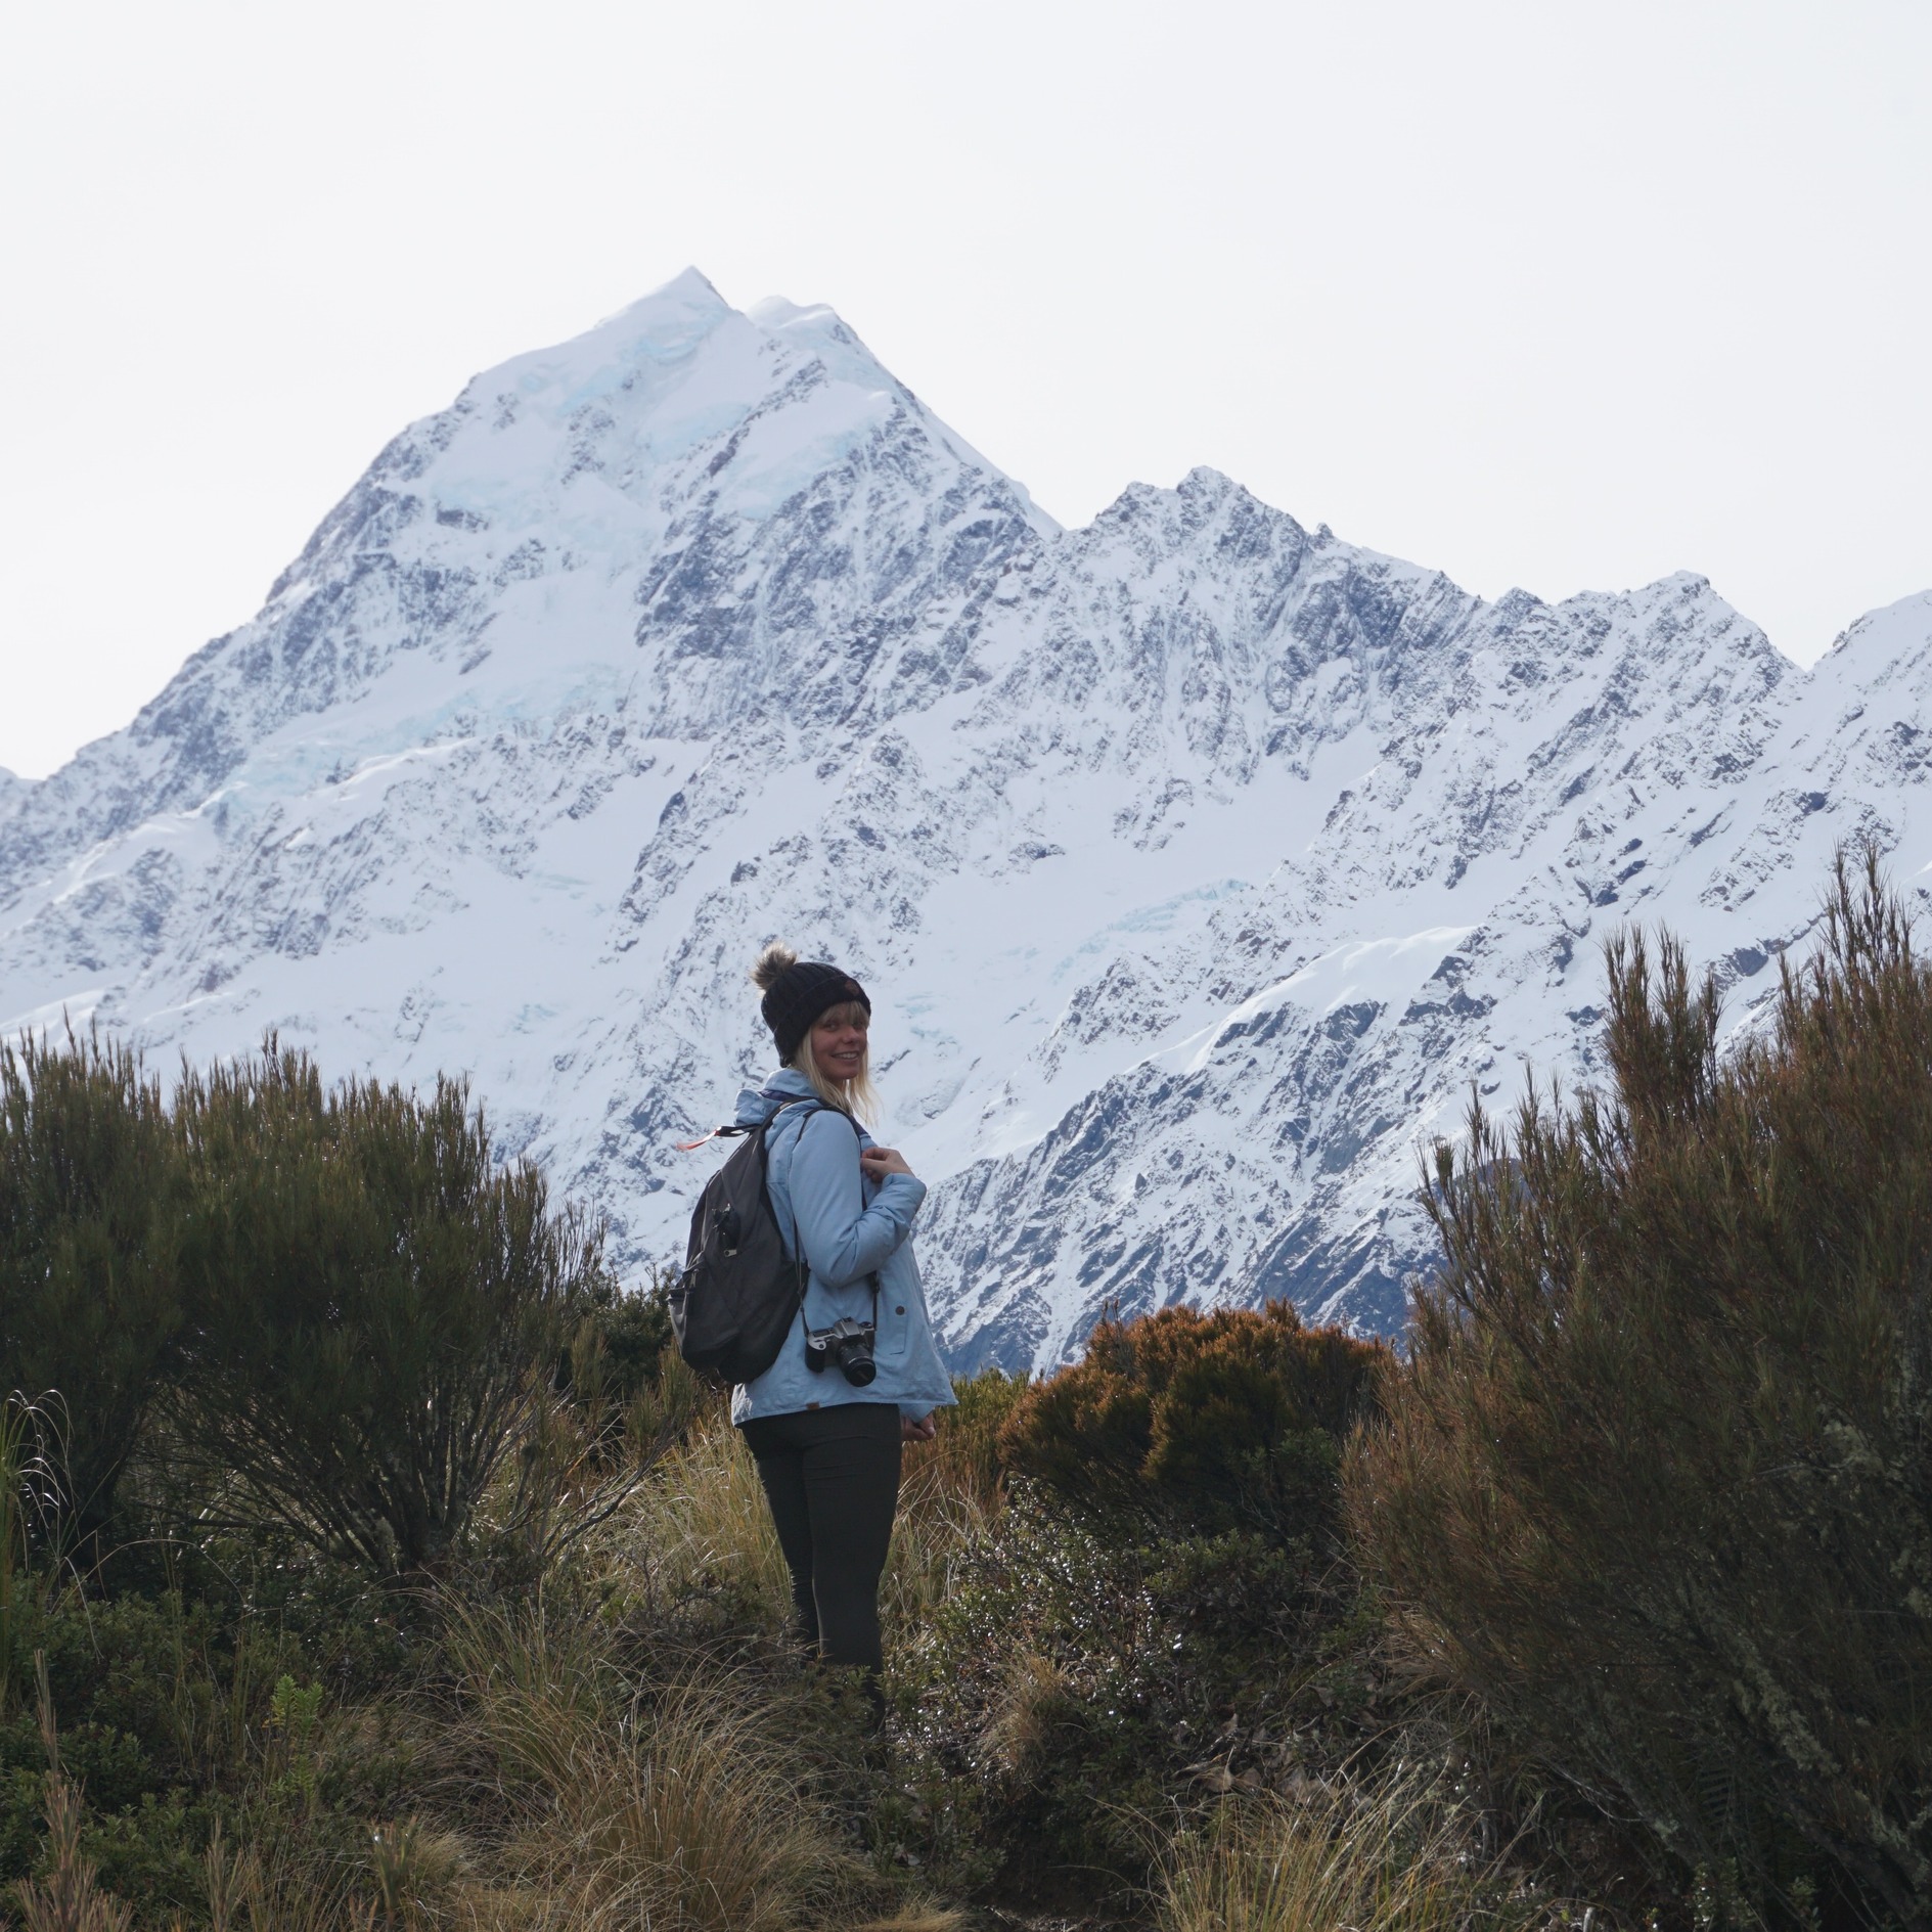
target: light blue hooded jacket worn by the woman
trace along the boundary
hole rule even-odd
[[[738,1124],[757,1126],[786,1101],[817,1099],[811,1082],[782,1066],[763,1086],[738,1095]],[[852,1132],[850,1117],[827,1107],[796,1107],[765,1138],[771,1211],[786,1252],[804,1240],[811,1279],[806,1306],[792,1316],[779,1360],[755,1381],[732,1391],[732,1422],[753,1416],[786,1416],[800,1408],[835,1403],[896,1403],[902,1416],[931,1414],[952,1401],[952,1383],[939,1360],[933,1323],[925,1312],[920,1265],[912,1260],[912,1217],[925,1200],[925,1182],[912,1175],[867,1180],[858,1150],[875,1146],[871,1134]],[[871,1275],[879,1275],[879,1333],[873,1358],[879,1376],[854,1389],[837,1364],[806,1368],[806,1318],[815,1329],[840,1316],[871,1320]]]

